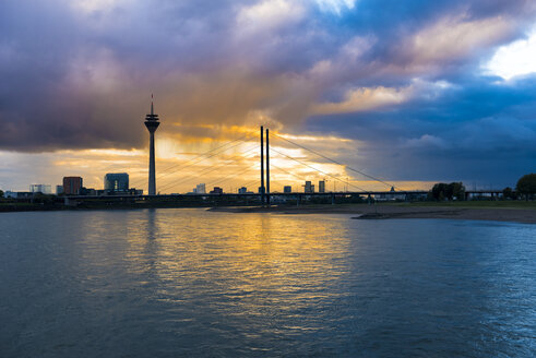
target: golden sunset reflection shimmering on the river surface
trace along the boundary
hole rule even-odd
[[[326,286],[348,271],[341,260],[348,246],[341,218],[204,210],[134,216],[126,259],[162,283],[160,299],[223,295],[291,305],[326,297]]]

